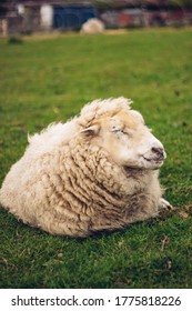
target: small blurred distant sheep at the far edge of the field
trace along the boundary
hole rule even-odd
[[[82,24],[80,32],[84,34],[95,34],[95,33],[102,33],[103,31],[104,31],[104,23],[97,18],[92,18]]]

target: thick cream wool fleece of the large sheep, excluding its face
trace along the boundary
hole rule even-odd
[[[97,139],[84,136],[102,116],[129,110],[113,99],[85,106],[80,117],[29,138],[0,190],[0,203],[18,219],[52,234],[85,237],[158,213],[158,170],[124,170]]]

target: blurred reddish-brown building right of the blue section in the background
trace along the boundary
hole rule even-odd
[[[169,0],[112,1],[113,7],[100,10],[107,28],[192,24],[191,6],[173,6]]]

